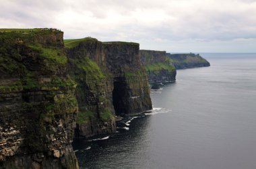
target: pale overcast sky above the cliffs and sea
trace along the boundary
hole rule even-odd
[[[167,52],[256,52],[256,0],[0,0],[1,28],[54,27],[65,39]]]

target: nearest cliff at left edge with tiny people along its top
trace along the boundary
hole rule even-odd
[[[78,168],[63,32],[5,32],[0,44],[0,168]]]

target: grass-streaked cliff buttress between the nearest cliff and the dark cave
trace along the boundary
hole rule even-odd
[[[106,69],[102,42],[85,38],[66,44],[69,73],[77,82],[75,96],[79,105],[76,137],[90,137],[116,131],[113,107],[113,76]]]

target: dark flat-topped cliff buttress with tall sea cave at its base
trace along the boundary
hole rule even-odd
[[[141,66],[139,44],[104,42],[106,66],[114,77],[113,105],[117,115],[152,109],[148,76]]]

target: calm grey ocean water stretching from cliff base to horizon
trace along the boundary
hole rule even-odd
[[[80,168],[255,169],[256,54],[201,55],[211,66],[178,70],[152,112],[75,141]]]

